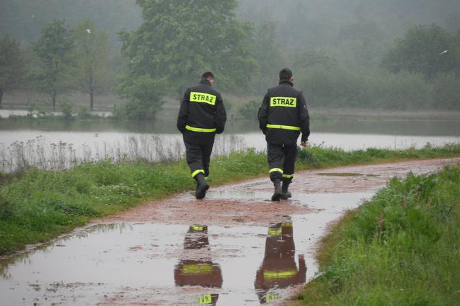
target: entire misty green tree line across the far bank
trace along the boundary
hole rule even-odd
[[[276,83],[280,68],[291,66],[297,87],[315,107],[460,109],[460,31],[438,24],[409,28],[376,60],[369,48],[377,48],[378,30],[362,20],[342,29],[341,36],[348,37],[346,50],[361,63],[369,57],[377,64],[351,69],[352,56],[343,57],[344,47],[293,48],[278,39],[276,22],[241,21],[236,0],[136,3],[143,21],[118,33],[120,71],[112,68],[107,33],[89,19],[75,28],[64,20],[46,24],[29,49],[11,35],[3,37],[0,103],[5,91],[27,80],[53,106],[58,94],[79,90],[87,93],[92,109],[98,94],[114,91],[127,100],[116,116],[146,120],[166,98],[179,98],[204,70],[215,72],[222,91],[254,96]],[[254,105],[240,106],[241,114]]]

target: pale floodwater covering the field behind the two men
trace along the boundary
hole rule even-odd
[[[414,120],[312,120],[310,145],[362,150],[368,147],[407,149],[427,143],[460,142],[460,125],[454,119]],[[213,154],[225,155],[247,148],[265,150],[265,137],[257,123],[229,120],[216,136]],[[0,171],[24,165],[60,170],[85,161],[163,161],[180,159],[185,152],[175,122],[116,123],[111,121],[0,120]]]

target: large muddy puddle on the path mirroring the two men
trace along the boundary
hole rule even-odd
[[[297,194],[312,213],[265,226],[89,226],[0,260],[1,305],[276,305],[317,273],[328,222],[369,196]]]

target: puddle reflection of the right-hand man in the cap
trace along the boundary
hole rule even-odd
[[[270,289],[285,288],[306,282],[307,268],[303,255],[299,255],[299,270],[294,259],[295,246],[292,222],[274,224],[268,229],[265,257],[257,271],[256,287],[261,304],[279,298]]]

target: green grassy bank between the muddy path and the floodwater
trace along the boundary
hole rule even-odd
[[[421,150],[359,150],[310,147],[299,153],[297,169],[460,156],[460,145]],[[233,153],[211,161],[211,184],[267,174],[263,153]],[[0,175],[0,255],[44,242],[75,226],[125,210],[147,199],[192,190],[186,163],[84,163],[61,172],[24,170]],[[268,183],[268,181],[267,181]]]

